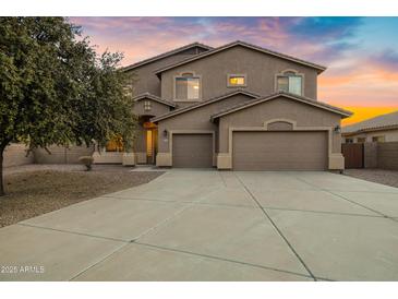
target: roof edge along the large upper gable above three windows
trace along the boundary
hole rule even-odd
[[[280,57],[280,58],[285,58],[287,60],[292,60],[292,61],[296,61],[298,63],[305,64],[305,65],[309,65],[309,67],[318,69],[321,71],[326,70],[326,67],[321,65],[321,64],[317,64],[317,63],[314,63],[314,62],[310,62],[310,61],[306,61],[306,60],[303,60],[303,59],[300,59],[300,58],[297,58],[297,57],[293,57],[293,56],[289,56],[289,55],[281,53],[281,52],[275,51],[275,50],[270,50],[270,49],[267,49],[267,48],[264,48],[264,47],[261,47],[261,46],[257,46],[257,45],[253,45],[253,44],[250,44],[250,43],[246,43],[246,41],[234,40],[234,41],[225,44],[222,46],[213,48],[213,49],[210,49],[208,51],[202,52],[200,55],[196,55],[196,56],[193,56],[193,57],[189,57],[189,58],[183,59],[183,60],[180,60],[178,62],[170,63],[169,65],[159,68],[159,69],[155,70],[155,73],[156,74],[159,74],[159,73],[161,73],[161,72],[164,72],[166,70],[173,69],[176,67],[185,64],[185,63],[188,63],[190,61],[194,61],[194,60],[201,59],[201,58],[206,57],[206,56],[210,56],[210,55],[213,55],[215,52],[221,51],[224,49],[228,49],[228,48],[233,47],[236,45],[245,46],[245,47],[249,47],[249,48],[258,50],[258,51],[267,52],[267,53],[273,55],[273,56],[277,56],[277,57]]]

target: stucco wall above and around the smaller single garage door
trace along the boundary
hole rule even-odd
[[[182,115],[165,119],[158,123],[158,152],[169,152],[169,141],[165,141],[165,130],[207,130],[218,133],[217,124],[210,122],[210,116],[219,110],[252,99],[252,97],[245,95],[236,95],[229,98],[221,99],[219,101],[193,109]],[[216,143],[217,144],[217,143]],[[217,147],[217,146],[216,146]],[[217,152],[217,148],[216,148]]]

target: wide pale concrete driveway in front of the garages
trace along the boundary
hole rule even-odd
[[[0,229],[0,280],[397,280],[398,189],[169,170]]]

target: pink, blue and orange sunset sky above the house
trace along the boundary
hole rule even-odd
[[[241,39],[328,69],[318,99],[349,109],[352,123],[398,109],[398,17],[71,17],[98,51],[123,65],[201,41]]]

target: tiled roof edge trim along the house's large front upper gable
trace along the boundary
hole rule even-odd
[[[167,65],[165,68],[158,69],[158,70],[155,71],[155,73],[157,75],[159,75],[161,72],[165,72],[165,71],[174,69],[177,67],[186,64],[186,63],[189,63],[191,61],[195,61],[195,60],[198,60],[198,59],[203,59],[205,57],[208,57],[210,55],[214,55],[214,53],[217,53],[217,52],[227,50],[227,49],[232,48],[232,47],[236,47],[236,46],[242,46],[242,47],[245,47],[245,48],[249,48],[249,49],[252,49],[252,50],[256,50],[256,51],[260,51],[260,52],[263,52],[263,53],[267,53],[267,55],[270,55],[270,56],[275,56],[275,57],[278,57],[278,58],[281,58],[281,59],[286,59],[286,60],[289,60],[289,61],[292,61],[292,62],[296,62],[296,63],[299,63],[299,64],[302,64],[302,65],[306,65],[306,67],[316,69],[317,70],[317,73],[322,73],[323,71],[326,70],[326,67],[321,65],[321,64],[316,64],[316,63],[309,62],[309,61],[305,61],[305,60],[302,60],[302,59],[299,59],[299,58],[296,58],[296,57],[292,57],[292,56],[288,56],[288,55],[284,55],[284,53],[280,53],[280,52],[276,52],[276,51],[273,51],[273,50],[269,50],[269,49],[266,49],[266,48],[262,48],[262,47],[258,47],[258,46],[255,46],[255,45],[245,43],[245,41],[236,40],[236,41],[232,41],[230,44],[224,45],[221,47],[215,48],[213,50],[209,50],[209,51],[200,53],[200,55],[197,55],[197,56],[195,56],[193,58],[188,58],[188,59],[182,60],[180,62],[172,63],[172,64]]]

